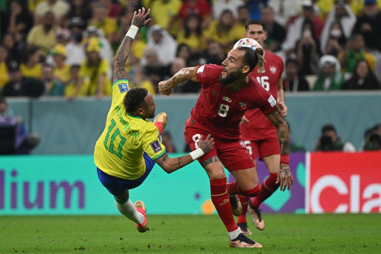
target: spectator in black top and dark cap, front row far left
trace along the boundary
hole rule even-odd
[[[3,96],[30,96],[38,97],[44,92],[42,82],[34,78],[22,76],[19,65],[16,61],[11,61],[8,66],[10,82],[3,89]]]

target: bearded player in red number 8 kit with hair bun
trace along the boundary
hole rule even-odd
[[[282,153],[288,154],[288,128],[274,97],[248,74],[258,65],[263,70],[263,49],[238,47],[231,50],[222,66],[205,64],[181,69],[169,80],[158,84],[163,95],[170,95],[175,85],[186,80],[202,84],[201,93],[191,117],[185,124],[185,140],[192,150],[198,150],[199,138],[211,133],[215,146],[198,160],[210,179],[211,200],[228,233],[231,247],[258,247],[261,244],[247,238],[233,219],[237,208],[236,195],[254,197],[259,194],[255,164],[240,138],[240,122],[249,109],[259,108],[279,133]],[[253,44],[254,45],[254,44]],[[235,182],[226,183],[224,167]],[[278,171],[283,190],[290,188],[293,178],[288,162]]]

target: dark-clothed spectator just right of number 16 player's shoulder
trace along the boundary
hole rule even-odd
[[[287,59],[285,64],[286,78],[283,79],[285,92],[308,91],[309,85],[303,76],[299,76],[299,64],[295,59]],[[288,129],[290,130],[290,128]]]

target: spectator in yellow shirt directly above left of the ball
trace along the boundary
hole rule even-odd
[[[235,25],[235,20],[230,10],[224,10],[218,21],[212,21],[205,32],[205,39],[207,41],[214,40],[218,42],[225,52],[229,52],[234,42],[242,39],[242,36],[242,31],[239,26]]]

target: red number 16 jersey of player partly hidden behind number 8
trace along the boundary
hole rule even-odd
[[[277,100],[278,80],[282,77],[284,70],[283,60],[280,56],[267,50],[265,50],[264,59],[266,61],[264,63],[264,72],[258,73],[258,67],[256,67],[249,76],[254,77]],[[244,140],[263,139],[274,133],[276,135],[274,125],[260,110],[247,111],[245,117],[250,122],[243,124],[241,127]]]

